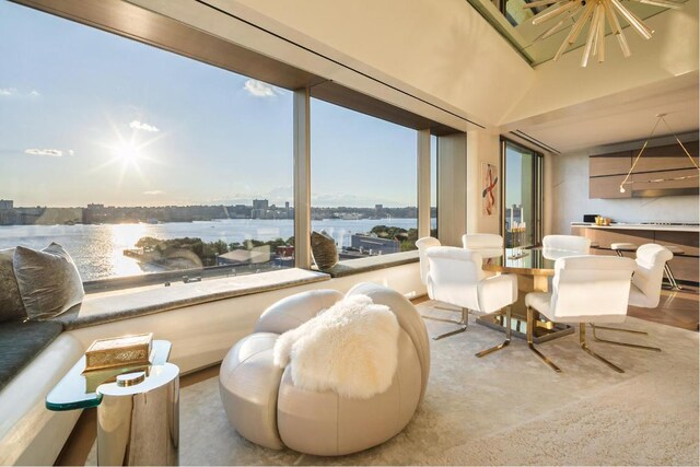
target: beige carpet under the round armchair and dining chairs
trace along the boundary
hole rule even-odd
[[[448,314],[432,305],[419,308]],[[431,334],[450,329],[425,323]],[[245,441],[229,427],[218,381],[211,378],[182,392],[180,464],[698,465],[698,334],[634,318],[625,326],[651,336],[610,336],[664,349],[592,343],[625,374],[584,353],[578,335],[540,346],[561,374],[520,339],[475,358],[503,338],[479,325],[432,341],[428,393],[407,429],[381,446],[338,458]],[[94,452],[89,462],[94,463]]]

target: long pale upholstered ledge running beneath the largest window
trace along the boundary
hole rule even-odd
[[[66,330],[71,330],[329,279],[327,273],[292,268],[201,282],[173,282],[170,287],[90,293],[83,303],[55,319],[61,322]]]

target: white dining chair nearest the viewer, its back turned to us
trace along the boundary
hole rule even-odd
[[[561,371],[533,343],[534,311],[537,311],[555,323],[579,323],[581,348],[612,370],[625,373],[588,348],[585,329],[586,323],[593,326],[594,323],[625,320],[634,269],[635,264],[630,258],[570,256],[557,259],[552,292],[532,292],[525,295],[528,347],[552,370]]]

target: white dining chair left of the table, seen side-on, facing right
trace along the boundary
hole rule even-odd
[[[433,299],[462,308],[462,327],[439,336],[464,332],[469,311],[480,315],[505,308],[505,341],[477,353],[483,357],[508,346],[511,341],[511,306],[517,300],[517,277],[500,275],[486,277],[481,255],[451,246],[433,247],[427,252],[430,261],[428,288]]]

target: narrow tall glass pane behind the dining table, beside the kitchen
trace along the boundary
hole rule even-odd
[[[542,155],[509,140],[502,141],[506,247],[541,242]]]

